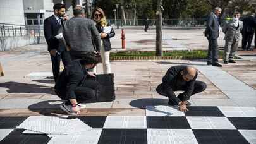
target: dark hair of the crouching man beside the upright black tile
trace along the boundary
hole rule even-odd
[[[89,52],[82,56],[80,63],[85,64],[97,64],[101,62],[101,56],[99,54],[95,54],[94,52]]]

